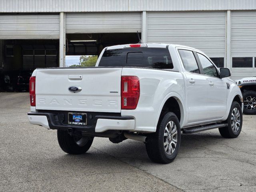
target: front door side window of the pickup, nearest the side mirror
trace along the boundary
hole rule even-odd
[[[206,58],[204,55],[197,53],[199,60],[201,62],[203,73],[208,76],[218,77],[218,72],[216,67]]]

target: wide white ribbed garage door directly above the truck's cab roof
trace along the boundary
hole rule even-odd
[[[225,57],[225,12],[148,12],[148,43],[172,43]]]

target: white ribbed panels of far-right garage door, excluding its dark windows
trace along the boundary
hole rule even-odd
[[[256,11],[231,12],[231,57],[256,57]],[[232,68],[232,79],[251,76],[255,67]]]

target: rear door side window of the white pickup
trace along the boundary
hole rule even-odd
[[[200,74],[198,65],[196,63],[196,58],[193,52],[189,50],[180,49],[179,53],[180,53],[180,57],[182,59],[184,68],[189,72]]]

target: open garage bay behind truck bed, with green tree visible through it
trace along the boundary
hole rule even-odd
[[[141,33],[139,33],[141,38]],[[95,66],[105,47],[139,42],[134,33],[67,34],[66,63],[68,66]]]

